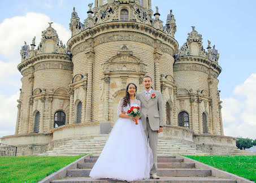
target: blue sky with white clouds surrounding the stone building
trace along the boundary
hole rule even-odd
[[[69,23],[73,7],[83,23],[88,4],[93,0],[0,1],[0,137],[15,133],[17,99],[21,74],[16,68],[21,62],[20,48],[24,41],[36,45],[50,21],[60,40],[71,37]],[[94,5],[93,5],[94,6]],[[256,18],[255,0],[152,0],[155,12],[166,23],[172,10],[176,19],[175,39],[182,46],[192,31],[202,34],[220,54],[219,90],[222,103],[224,135],[256,138]]]

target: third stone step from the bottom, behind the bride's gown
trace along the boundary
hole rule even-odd
[[[93,168],[95,163],[78,163],[77,168]],[[157,163],[158,168],[195,168],[194,163]]]

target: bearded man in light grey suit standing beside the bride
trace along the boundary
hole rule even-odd
[[[158,133],[163,132],[163,98],[160,91],[151,88],[150,76],[143,78],[143,85],[145,90],[137,94],[137,99],[141,101],[141,121],[154,158],[150,178],[158,179],[157,142]]]

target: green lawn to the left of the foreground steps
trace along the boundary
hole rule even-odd
[[[0,156],[0,182],[38,182],[82,156]]]

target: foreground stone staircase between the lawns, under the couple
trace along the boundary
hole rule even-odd
[[[109,179],[94,180],[89,177],[93,165],[97,161],[98,156],[90,155],[89,159],[84,159],[84,163],[78,163],[76,169],[67,170],[67,176],[51,181],[54,182],[108,182]],[[176,156],[162,155],[158,156],[158,176],[160,179],[147,179],[134,182],[172,182],[172,183],[192,183],[192,182],[218,182],[218,183],[235,183],[236,180],[229,178],[219,178],[212,176],[211,169],[198,169],[194,163],[184,163],[183,158],[176,158]],[[111,180],[111,182],[123,182],[118,180]]]

